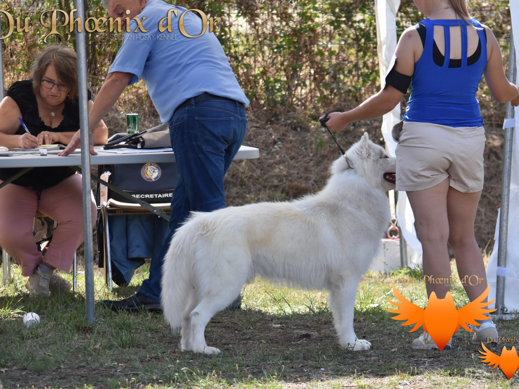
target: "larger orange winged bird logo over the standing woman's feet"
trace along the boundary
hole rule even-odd
[[[414,328],[409,332],[416,331],[424,326],[426,331],[434,340],[434,343],[440,350],[443,350],[449,339],[458,331],[459,326],[465,328],[469,332],[473,332],[467,324],[479,325],[476,320],[485,320],[488,317],[485,313],[494,312],[495,309],[485,309],[490,302],[482,302],[488,296],[489,287],[481,294],[480,297],[469,304],[456,309],[454,299],[450,292],[447,292],[443,299],[436,297],[434,292],[429,296],[427,307],[425,309],[418,307],[402,296],[393,285],[393,294],[401,302],[394,302],[387,299],[395,307],[400,309],[387,309],[386,311],[398,313],[397,316],[391,317],[395,320],[405,320],[403,326],[415,324]]]

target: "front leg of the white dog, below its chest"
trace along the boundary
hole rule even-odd
[[[353,313],[358,283],[352,285],[346,278],[341,276],[338,278],[340,281],[330,287],[328,296],[339,344],[347,350],[369,350],[371,343],[367,340],[358,339],[353,329]]]

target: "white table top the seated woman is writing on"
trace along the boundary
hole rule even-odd
[[[98,155],[90,156],[91,165],[122,164],[122,163],[144,163],[144,162],[174,162],[173,151],[161,152],[132,152],[128,154],[117,154],[103,150],[103,146],[94,146]],[[253,159],[260,157],[260,150],[256,147],[241,146],[235,159]],[[71,154],[60,157],[57,154],[39,156],[36,154],[22,154],[17,156],[0,156],[0,168],[30,168],[43,166],[80,166],[81,154]]]

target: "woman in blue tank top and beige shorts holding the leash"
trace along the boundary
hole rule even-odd
[[[382,116],[411,85],[397,146],[397,189],[405,190],[423,251],[425,280],[449,279],[447,243],[458,274],[476,276],[463,284],[470,301],[487,287],[485,266],[474,236],[474,219],[483,188],[485,135],[476,91],[481,76],[499,103],[519,105],[519,91],[503,71],[499,44],[490,29],[472,19],[466,0],[415,0],[427,17],[406,29],[386,86],[358,107],[331,113],[326,126],[342,131],[357,120]],[[443,299],[450,284],[426,282],[427,294]],[[484,300],[486,301],[486,300]],[[491,318],[473,326],[473,343],[497,339]],[[414,349],[438,348],[427,332]],[[451,342],[444,350],[451,348]]]

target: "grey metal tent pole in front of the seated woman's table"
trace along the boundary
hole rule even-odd
[[[85,21],[83,0],[75,0],[77,16]],[[80,31],[78,31],[78,29]],[[77,44],[77,72],[79,86],[79,128],[81,130],[81,171],[83,172],[83,225],[85,228],[85,298],[87,322],[95,323],[94,312],[94,279],[93,279],[93,234],[92,203],[90,195],[90,141],[88,129],[88,86],[87,86],[87,46],[85,30],[74,23]]]

